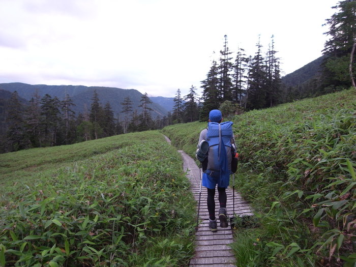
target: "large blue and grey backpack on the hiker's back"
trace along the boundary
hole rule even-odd
[[[229,183],[231,161],[235,152],[231,140],[233,140],[232,122],[214,123],[207,125],[206,141],[209,143],[207,152],[206,174],[211,177]],[[226,185],[226,187],[227,187]]]

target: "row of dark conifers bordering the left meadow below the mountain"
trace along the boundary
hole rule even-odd
[[[173,123],[192,122],[197,119],[196,93],[192,86],[190,94],[183,99],[174,99],[175,108],[163,117],[152,117],[152,101],[147,93],[140,99],[140,105],[133,107],[130,97],[122,105],[120,118],[107,102],[101,104],[94,91],[90,109],[75,114],[75,105],[67,94],[63,100],[38,92],[22,103],[15,91],[6,105],[5,131],[0,133],[0,153],[13,152],[33,147],[73,144],[117,134],[162,129]]]

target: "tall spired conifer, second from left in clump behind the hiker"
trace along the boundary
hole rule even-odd
[[[219,98],[220,103],[225,100],[232,100],[232,81],[231,81],[231,70],[232,70],[232,54],[227,46],[227,36],[224,36],[224,49],[220,50],[220,66],[219,66]]]

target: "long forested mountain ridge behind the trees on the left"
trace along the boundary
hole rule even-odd
[[[122,111],[121,103],[126,97],[130,97],[133,109],[136,109],[138,112],[140,112],[141,108],[139,105],[141,104],[140,100],[143,96],[140,92],[134,89],[126,90],[115,87],[100,86],[87,87],[83,85],[31,85],[20,82],[0,83],[0,90],[6,90],[11,93],[17,91],[19,97],[26,100],[31,100],[31,98],[34,97],[36,91],[41,98],[45,94],[48,94],[52,98],[57,97],[60,100],[63,100],[66,94],[68,94],[75,104],[72,109],[76,112],[76,114],[83,113],[85,110],[90,109],[94,90],[96,90],[101,104],[104,106],[107,102],[109,102],[115,117],[120,116]],[[153,109],[151,115],[154,119],[157,116],[163,117],[167,115],[168,111],[164,107],[155,103],[153,100],[151,101],[153,102],[152,105],[150,105],[150,107]]]

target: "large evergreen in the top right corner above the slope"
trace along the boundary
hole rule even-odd
[[[327,19],[326,25],[330,26],[327,35],[331,36],[330,40],[325,42],[324,54],[328,54],[327,63],[325,66],[324,77],[330,77],[334,74],[333,80],[329,80],[329,84],[349,86],[355,85],[355,60],[354,54],[356,50],[356,1],[345,0],[340,1],[334,9],[340,9],[338,13]],[[329,72],[329,73],[328,73]],[[348,73],[349,79],[345,80],[345,75]],[[328,84],[326,84],[328,85]]]

